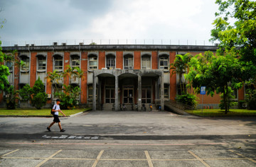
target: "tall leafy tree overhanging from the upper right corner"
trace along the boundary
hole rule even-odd
[[[252,69],[241,77],[245,84],[256,84],[256,1],[216,0],[219,11],[215,13],[210,40],[220,42],[218,54],[237,55],[241,68]],[[252,67],[248,67],[252,66]]]

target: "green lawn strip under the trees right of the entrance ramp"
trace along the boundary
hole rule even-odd
[[[187,113],[192,115],[198,115],[201,117],[238,117],[238,116],[255,116],[256,110],[246,110],[246,109],[230,109],[228,114],[225,114],[225,110],[220,109],[198,109],[198,110],[186,110]]]

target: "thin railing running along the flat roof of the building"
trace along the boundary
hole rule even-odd
[[[208,40],[26,40],[26,41],[2,41],[1,47],[12,46],[49,46],[49,45],[203,45],[214,46],[214,42]]]

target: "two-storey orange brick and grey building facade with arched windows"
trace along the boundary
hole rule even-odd
[[[55,100],[54,87],[48,79],[48,72],[63,71],[70,67],[80,67],[83,79],[66,77],[63,84],[80,86],[80,105],[88,105],[93,110],[119,110],[125,104],[127,110],[141,110],[153,104],[164,110],[164,102],[175,100],[178,93],[178,76],[169,71],[176,54],[193,55],[215,52],[215,46],[193,45],[57,45],[3,47],[3,52],[17,50],[17,59],[24,62],[22,68],[9,66],[9,82],[16,90],[26,84],[33,86],[40,76],[48,94],[48,106]],[[185,79],[182,79],[185,82]],[[4,94],[0,95],[4,106]],[[238,98],[244,99],[243,90]],[[204,102],[213,108],[220,103],[220,96],[205,96]],[[198,95],[199,104],[201,95]],[[200,106],[200,105],[199,105]]]

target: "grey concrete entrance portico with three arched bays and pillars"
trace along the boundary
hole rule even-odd
[[[137,104],[138,110],[141,110],[142,103],[156,104],[156,102],[160,102],[156,105],[160,105],[161,110],[164,110],[164,71],[162,69],[94,70],[92,86],[93,110],[97,110],[97,104],[98,106],[109,104],[117,111],[121,103]]]

